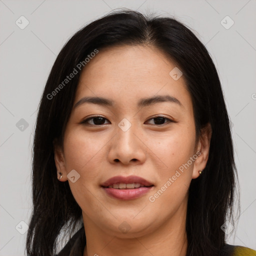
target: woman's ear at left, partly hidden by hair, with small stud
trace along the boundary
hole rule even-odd
[[[54,148],[54,161],[57,169],[57,178],[59,178],[61,175],[61,179],[59,181],[66,181],[67,180],[67,172],[66,172],[66,167],[65,167],[65,158],[64,158],[64,153],[63,149],[57,142],[57,139],[53,140],[53,148]],[[59,173],[61,172],[61,174]]]

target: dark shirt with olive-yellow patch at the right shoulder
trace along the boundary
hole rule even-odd
[[[82,256],[86,243],[84,226],[71,237],[63,249],[55,256]],[[256,256],[256,250],[238,246],[225,244],[221,250],[220,256]]]

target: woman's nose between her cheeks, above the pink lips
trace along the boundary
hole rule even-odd
[[[136,132],[137,131],[137,132]],[[131,125],[128,130],[119,126],[115,129],[115,136],[110,141],[108,160],[111,163],[141,164],[145,161],[145,144],[143,138],[138,135],[138,129]]]

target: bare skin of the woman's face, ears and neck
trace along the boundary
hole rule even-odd
[[[83,256],[186,253],[187,191],[191,179],[206,165],[211,128],[207,125],[196,141],[192,101],[184,79],[169,75],[175,66],[156,48],[122,45],[99,50],[80,75],[74,104],[84,96],[114,101],[112,106],[84,103],[73,108],[63,148],[54,147],[57,177],[62,172],[60,181],[68,181],[82,209],[87,240]],[[166,94],[182,106],[158,102],[137,107],[142,97]],[[98,119],[80,123],[92,115],[104,117],[102,125],[97,125]],[[159,115],[175,122],[163,119],[158,124],[152,118]],[[131,123],[127,131],[118,126],[123,118]],[[201,154],[151,202],[149,196],[196,151]],[[74,183],[67,178],[72,169],[80,175]],[[154,186],[136,199],[114,199],[100,184],[116,175],[137,175]],[[125,225],[123,221],[130,227],[126,233],[118,228]]]

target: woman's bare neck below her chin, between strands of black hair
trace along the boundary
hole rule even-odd
[[[182,206],[174,213],[171,219],[164,221],[157,230],[143,235],[130,234],[129,238],[118,237],[118,234],[109,236],[108,233],[99,229],[88,219],[86,220],[84,221],[86,223],[84,225],[86,229],[86,246],[84,247],[83,256],[186,255],[186,210]]]

